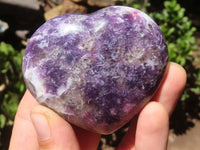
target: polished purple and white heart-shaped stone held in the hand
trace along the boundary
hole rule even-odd
[[[79,127],[109,134],[151,99],[167,61],[151,18],[111,6],[43,24],[27,45],[23,75],[38,102]]]

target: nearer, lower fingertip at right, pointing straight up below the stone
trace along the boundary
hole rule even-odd
[[[135,150],[166,150],[169,117],[163,105],[150,102],[139,114]]]

